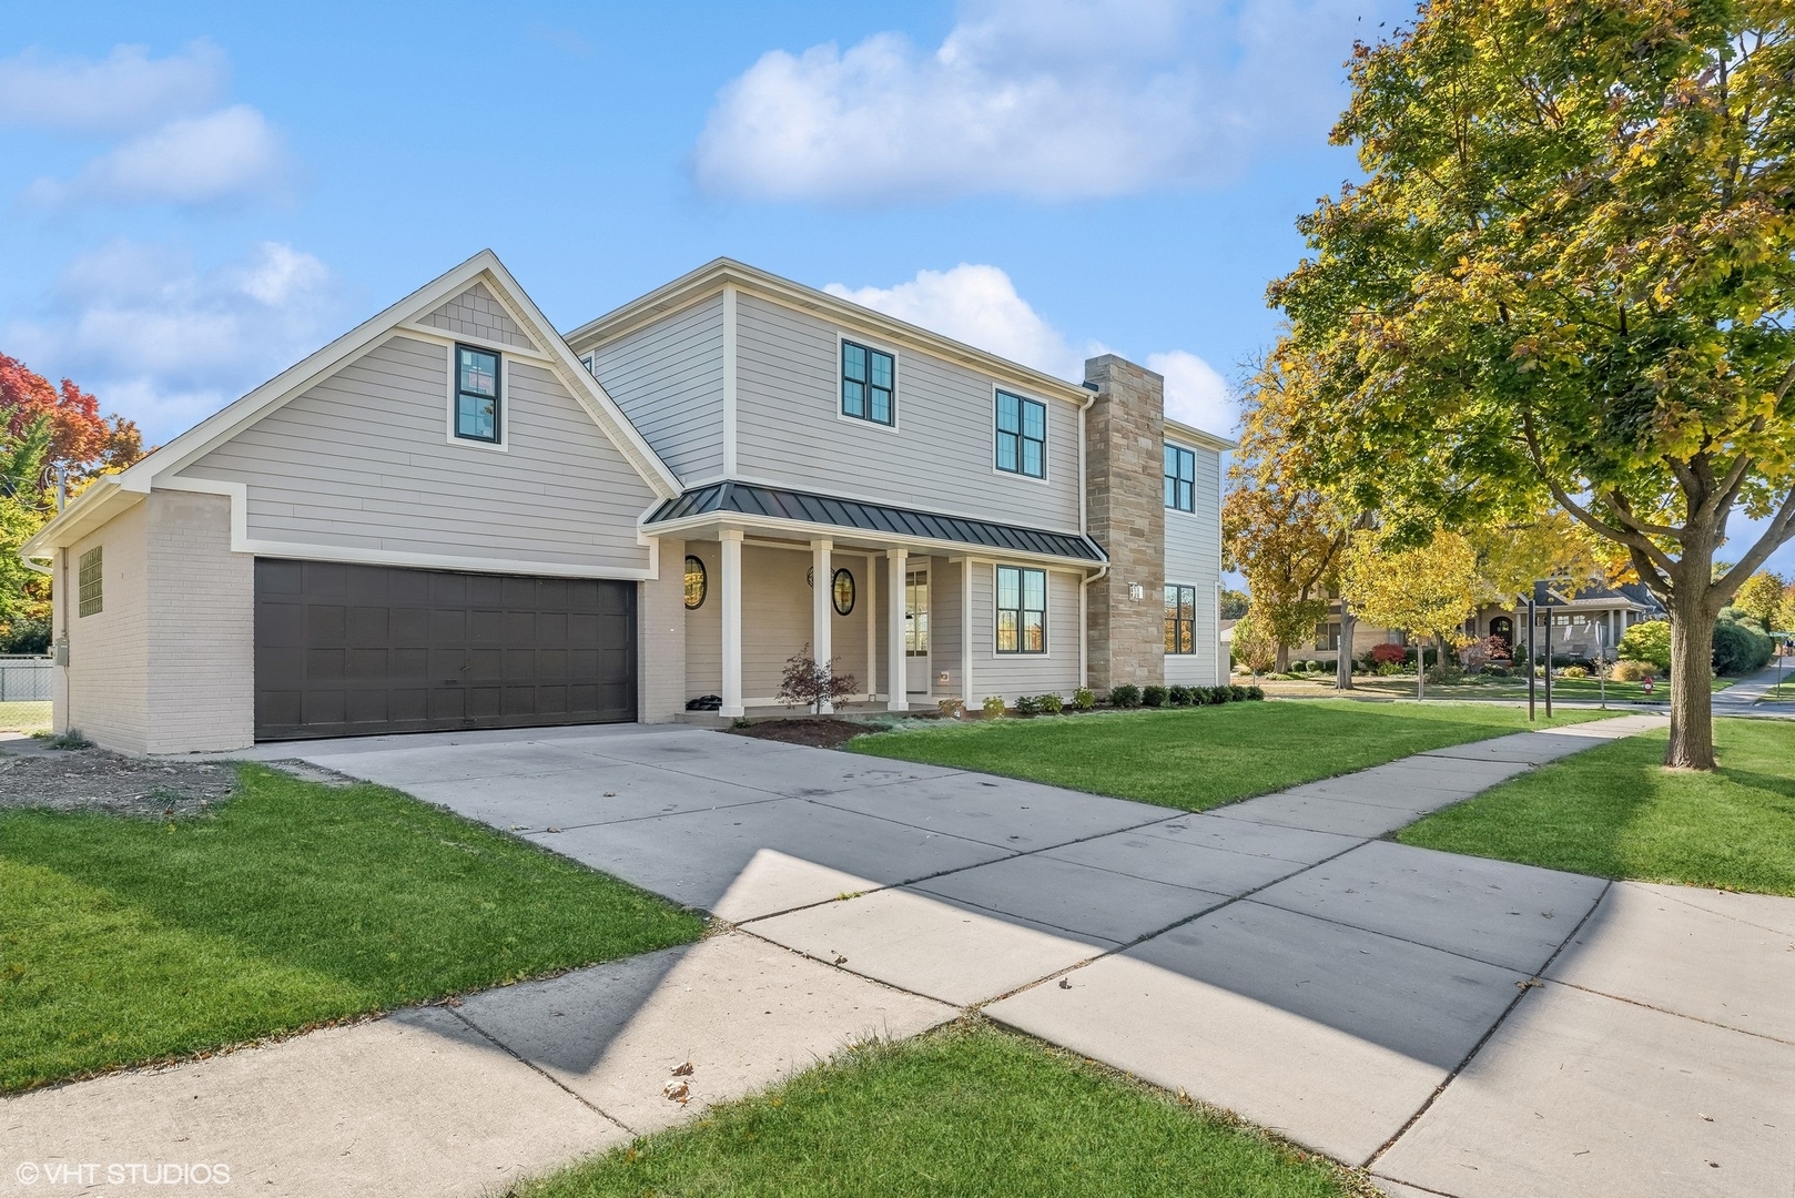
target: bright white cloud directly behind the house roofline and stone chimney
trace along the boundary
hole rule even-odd
[[[1111,352],[1100,341],[1073,348],[996,266],[960,262],[948,271],[917,271],[892,287],[833,282],[824,291],[1073,383],[1084,379],[1086,357]],[[1143,365],[1165,375],[1165,415],[1174,420],[1228,435],[1240,418],[1226,379],[1195,354],[1149,354]]]

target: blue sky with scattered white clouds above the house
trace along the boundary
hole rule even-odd
[[[11,5],[0,350],[160,442],[485,246],[564,329],[729,255],[1226,433],[1407,11]]]

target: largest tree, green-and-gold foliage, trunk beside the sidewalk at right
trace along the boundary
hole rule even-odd
[[[1318,483],[1468,528],[1556,503],[1671,614],[1666,763],[1714,769],[1709,654],[1795,535],[1795,41],[1777,4],[1432,0],[1359,47],[1364,180],[1273,284]],[[1764,519],[1712,571],[1734,510]]]

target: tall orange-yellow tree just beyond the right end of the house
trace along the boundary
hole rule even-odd
[[[1276,645],[1280,674],[1291,666],[1291,645],[1314,638],[1327,618],[1346,544],[1346,521],[1325,492],[1303,481],[1305,451],[1287,433],[1303,402],[1305,374],[1300,357],[1283,354],[1253,374],[1222,498],[1222,566],[1246,575],[1256,627]]]

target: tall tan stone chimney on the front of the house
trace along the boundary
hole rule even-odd
[[[1084,512],[1109,573],[1090,586],[1090,686],[1165,683],[1165,379],[1104,354],[1084,363]]]

